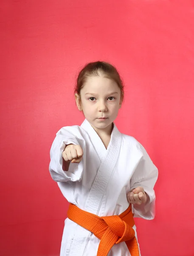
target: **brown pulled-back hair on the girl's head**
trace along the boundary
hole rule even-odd
[[[106,78],[114,80],[118,87],[121,90],[121,99],[124,98],[124,84],[117,71],[117,69],[110,63],[105,61],[96,61],[86,64],[82,70],[79,72],[79,75],[76,80],[76,86],[74,93],[80,95],[80,91],[84,87],[84,83],[88,78],[92,76],[104,76]]]

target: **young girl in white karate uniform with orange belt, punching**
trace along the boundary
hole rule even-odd
[[[157,168],[114,124],[123,97],[111,64],[89,63],[79,73],[75,98],[85,120],[57,132],[49,166],[70,202],[60,256],[140,256],[133,217],[154,218]]]

